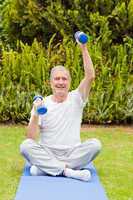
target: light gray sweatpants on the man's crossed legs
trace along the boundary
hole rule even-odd
[[[101,143],[97,139],[89,139],[72,148],[43,146],[32,139],[26,139],[20,145],[21,154],[31,165],[53,176],[61,174],[66,166],[82,169],[100,150]]]

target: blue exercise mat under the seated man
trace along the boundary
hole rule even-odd
[[[15,200],[107,200],[105,191],[92,164],[90,182],[62,176],[30,176],[24,168]]]

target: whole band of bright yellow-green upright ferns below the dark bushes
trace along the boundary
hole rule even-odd
[[[2,50],[0,70],[0,121],[27,121],[35,94],[51,93],[50,69],[65,65],[71,72],[71,89],[83,78],[80,49],[68,37],[54,45],[56,35],[44,48],[18,42],[17,51]],[[106,37],[105,37],[106,38]],[[105,52],[103,38],[90,40],[88,48],[96,71],[83,121],[87,123],[131,123],[133,121],[133,39],[112,45]]]

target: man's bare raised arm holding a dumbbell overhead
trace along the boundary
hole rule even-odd
[[[95,71],[86,44],[80,44],[80,48],[83,57],[84,78],[81,81],[78,89],[82,95],[83,100],[85,100],[89,95],[91,83],[95,79]]]

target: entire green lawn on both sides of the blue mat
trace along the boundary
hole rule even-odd
[[[0,199],[13,200],[24,160],[19,145],[25,127],[0,126]],[[96,137],[103,150],[95,160],[100,180],[110,200],[133,200],[133,132],[121,127],[85,130],[82,140]]]

